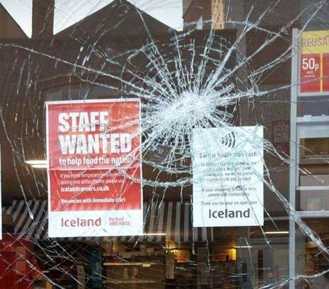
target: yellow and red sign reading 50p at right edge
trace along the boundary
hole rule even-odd
[[[301,34],[300,93],[329,92],[329,30]]]

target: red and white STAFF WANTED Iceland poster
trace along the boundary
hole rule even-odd
[[[49,237],[141,235],[139,99],[51,101]]]

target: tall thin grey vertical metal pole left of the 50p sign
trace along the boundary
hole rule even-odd
[[[289,202],[295,207],[296,194],[296,168],[297,168],[297,93],[298,93],[298,56],[299,37],[298,30],[292,30],[292,59],[291,59],[291,98],[290,98],[290,184]],[[289,289],[295,289],[295,219],[289,216]]]

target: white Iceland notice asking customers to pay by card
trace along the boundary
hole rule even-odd
[[[259,226],[263,127],[193,130],[193,226]]]

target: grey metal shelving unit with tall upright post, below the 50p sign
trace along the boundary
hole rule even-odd
[[[292,47],[294,54],[291,59],[291,102],[290,102],[290,184],[289,184],[289,202],[290,205],[296,209],[296,213],[303,219],[322,218],[329,216],[329,202],[323,201],[328,199],[326,196],[329,191],[329,184],[326,182],[314,184],[301,184],[300,168],[306,172],[311,172],[308,166],[317,166],[326,164],[328,160],[327,151],[313,154],[314,150],[309,150],[309,153],[303,154],[303,141],[309,139],[328,138],[329,115],[327,111],[317,111],[314,109],[298,110],[298,104],[301,100],[307,99],[325,99],[329,97],[328,91],[318,92],[301,92],[301,69],[300,62],[301,54],[301,31],[293,29],[292,32]],[[321,68],[323,69],[323,68]],[[325,148],[326,149],[326,148]],[[314,167],[313,167],[314,168]],[[315,170],[316,171],[316,170]],[[326,174],[326,173],[325,173]],[[307,174],[305,174],[307,175]],[[312,173],[316,176],[317,173]],[[297,195],[297,193],[299,195]],[[323,200],[317,199],[323,197]],[[299,197],[299,199],[298,199]],[[322,197],[321,197],[322,198]],[[302,202],[303,201],[303,204]],[[313,203],[312,203],[313,202]],[[295,235],[295,219],[289,218],[289,288],[295,288],[295,281],[293,276],[296,274],[296,235]]]

